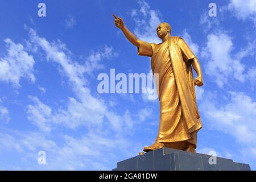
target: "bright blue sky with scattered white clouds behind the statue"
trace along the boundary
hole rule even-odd
[[[158,100],[99,94],[100,73],[149,73],[114,26],[120,16],[139,39],[159,43],[172,26],[199,58],[196,88],[203,129],[197,152],[256,169],[256,1],[1,1],[0,169],[113,169],[158,132]],[[46,152],[46,165],[38,152]]]

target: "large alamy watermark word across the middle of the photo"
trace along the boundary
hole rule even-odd
[[[158,73],[118,73],[110,69],[110,76],[107,73],[100,73],[97,77],[100,81],[97,86],[98,93],[143,93],[147,94],[148,100],[158,98],[159,75]],[[154,81],[153,81],[154,80]],[[153,88],[153,85],[154,88]]]

